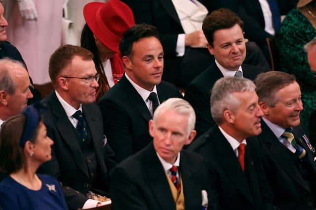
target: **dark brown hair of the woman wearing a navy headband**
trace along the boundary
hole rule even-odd
[[[26,117],[23,114],[15,115],[1,125],[0,130],[0,172],[11,174],[21,169],[25,164],[24,148],[20,147]],[[37,125],[30,142],[36,143],[40,124]]]

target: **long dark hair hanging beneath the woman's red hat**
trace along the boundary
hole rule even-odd
[[[108,79],[104,72],[104,66],[99,56],[99,50],[97,45],[95,44],[95,39],[93,36],[92,30],[88,27],[87,24],[84,24],[81,39],[80,39],[81,47],[89,50],[93,54],[93,61],[97,72],[100,74],[99,79],[99,91],[102,96],[106,91],[110,89]],[[98,94],[99,95],[99,94]]]

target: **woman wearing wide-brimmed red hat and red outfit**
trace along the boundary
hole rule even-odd
[[[118,50],[123,33],[135,24],[132,10],[120,0],[91,2],[83,8],[86,21],[81,33],[81,47],[93,53],[101,75],[96,101],[123,76],[124,67]]]

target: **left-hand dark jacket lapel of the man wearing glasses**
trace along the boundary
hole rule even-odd
[[[56,117],[56,128],[59,131],[60,136],[66,142],[69,150],[73,153],[74,160],[77,163],[79,169],[88,176],[88,170],[84,163],[84,157],[78,143],[78,137],[76,130],[73,129],[73,125],[68,119],[66,112],[59,100],[56,97],[55,91],[50,94],[50,107],[52,114]],[[65,148],[65,150],[67,150]]]

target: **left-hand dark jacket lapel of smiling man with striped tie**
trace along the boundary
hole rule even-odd
[[[293,180],[293,182],[296,182],[298,185],[301,185],[303,188],[310,192],[310,187],[305,183],[301,174],[292,163],[292,159],[286,151],[287,148],[285,148],[285,146],[282,145],[282,143],[276,138],[276,135],[264,122],[264,120],[261,120],[261,128],[261,139],[270,151],[273,158],[276,160],[279,167],[281,167],[287,173],[287,175]]]

